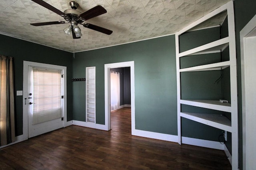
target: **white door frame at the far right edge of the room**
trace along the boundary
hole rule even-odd
[[[252,54],[251,48],[253,45],[248,43],[254,39],[252,42],[255,43],[256,39],[256,15],[250,20],[246,26],[240,31],[240,47],[241,47],[241,79],[242,79],[242,128],[243,128],[243,169],[249,170],[252,168],[255,168],[256,163],[254,162],[256,153],[252,153],[254,148],[251,148],[253,146],[250,146],[250,143],[252,143],[252,140],[255,139],[253,136],[255,136],[255,131],[252,129],[250,125],[254,125],[256,121],[255,115],[252,115],[252,109],[254,103],[252,103],[252,99],[249,98],[250,96],[250,86],[248,83],[248,80],[252,81],[251,74],[255,74],[255,72],[247,71],[247,69],[254,69],[255,65],[248,61],[249,59],[252,59],[252,57],[256,57],[255,53]],[[246,42],[248,44],[246,44]],[[255,45],[255,44],[254,44]],[[255,51],[255,50],[254,50]],[[254,80],[255,81],[255,80]],[[255,97],[255,96],[254,96]],[[250,111],[249,111],[250,110]],[[253,110],[254,114],[256,114],[256,110]],[[249,127],[250,126],[250,127]],[[255,125],[254,125],[255,128]],[[249,139],[250,137],[250,139]],[[250,140],[250,143],[249,143]],[[253,141],[254,143],[255,141]],[[255,145],[254,145],[255,146]]]

